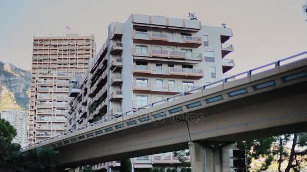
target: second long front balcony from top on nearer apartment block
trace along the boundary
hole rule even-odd
[[[133,56],[202,61],[201,53],[134,48]]]

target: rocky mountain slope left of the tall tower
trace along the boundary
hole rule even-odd
[[[0,61],[2,81],[0,110],[29,110],[30,79],[30,71]]]

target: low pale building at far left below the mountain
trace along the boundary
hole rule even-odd
[[[27,145],[27,113],[18,110],[3,110],[1,118],[10,122],[16,128],[17,135],[13,139],[13,143],[19,143],[21,146]]]

